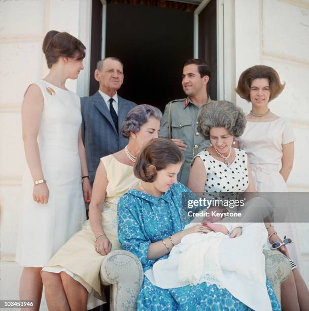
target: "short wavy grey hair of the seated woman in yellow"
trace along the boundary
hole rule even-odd
[[[138,133],[145,123],[147,123],[150,117],[161,120],[162,112],[157,107],[151,105],[139,105],[132,108],[127,117],[122,122],[121,134],[125,138],[130,137],[130,133]]]

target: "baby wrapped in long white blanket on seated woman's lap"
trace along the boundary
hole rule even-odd
[[[185,229],[196,225],[193,221]],[[147,270],[150,282],[165,289],[202,282],[216,284],[255,310],[271,310],[263,255],[267,241],[264,224],[229,223],[226,218],[207,225],[215,231],[187,234],[167,259]],[[242,227],[242,235],[230,238],[236,227]]]

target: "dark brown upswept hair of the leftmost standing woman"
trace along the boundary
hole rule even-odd
[[[80,40],[68,33],[60,33],[56,30],[50,30],[46,34],[42,49],[49,69],[57,63],[59,57],[83,59],[86,55],[86,47]]]

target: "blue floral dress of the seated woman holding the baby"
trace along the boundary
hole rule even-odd
[[[118,202],[118,237],[124,250],[137,256],[144,272],[156,260],[148,260],[148,246],[182,231],[187,224],[181,200],[190,192],[182,183],[173,184],[161,198],[131,189]],[[158,260],[167,258],[168,255]],[[269,281],[266,282],[272,310],[281,310]],[[201,283],[173,289],[152,285],[145,276],[138,298],[138,310],[250,310],[226,289]]]

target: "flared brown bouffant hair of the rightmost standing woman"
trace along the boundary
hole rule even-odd
[[[284,89],[285,83],[281,84],[278,72],[271,67],[257,65],[245,70],[238,80],[236,93],[247,100],[250,99],[251,84],[254,79],[267,79],[269,82],[270,96],[269,102],[275,99]]]

